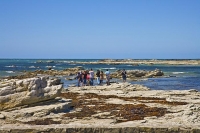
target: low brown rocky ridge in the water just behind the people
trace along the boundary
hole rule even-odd
[[[83,71],[85,71],[85,69],[81,66],[74,68],[67,68],[64,70],[36,70],[32,72],[24,72],[24,74],[22,75],[5,77],[4,79],[26,79],[26,78],[33,78],[35,76],[48,75],[48,76],[66,76],[68,77],[67,80],[74,80],[74,77],[77,75],[77,73]],[[126,72],[127,72],[127,78],[130,80],[164,76],[164,73],[159,69],[155,69],[153,71],[127,70]],[[121,70],[116,70],[112,72],[111,77],[116,79],[121,79],[122,78]]]

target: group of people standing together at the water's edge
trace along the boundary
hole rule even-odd
[[[104,80],[104,75],[106,77],[106,84],[110,85],[110,71],[107,69],[105,73],[102,70],[96,71],[96,79],[97,84],[102,85]],[[122,73],[123,81],[126,82],[126,71],[123,69]],[[76,76],[77,79],[77,86],[93,86],[94,85],[94,79],[95,79],[95,72],[91,68],[90,70],[85,70],[77,73]]]

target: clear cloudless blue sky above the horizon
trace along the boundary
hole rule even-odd
[[[200,58],[200,0],[0,0],[0,58]]]

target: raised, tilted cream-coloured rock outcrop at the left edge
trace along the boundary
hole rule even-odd
[[[34,77],[0,82],[0,111],[54,99],[63,85],[58,78]]]

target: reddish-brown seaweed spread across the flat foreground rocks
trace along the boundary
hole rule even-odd
[[[74,109],[79,111],[73,111],[64,114],[64,117],[70,119],[77,118],[82,119],[85,117],[94,117],[98,119],[106,119],[109,117],[115,117],[116,122],[125,122],[133,120],[143,120],[145,117],[161,117],[168,113],[166,108],[161,107],[149,107],[145,104],[111,104],[106,103],[109,98],[118,98],[125,101],[139,101],[142,103],[159,103],[166,105],[185,105],[186,102],[169,102],[165,98],[157,97],[120,97],[116,95],[98,95],[95,93],[78,94],[73,92],[62,93],[62,97],[71,98]],[[105,115],[96,115],[99,112],[110,112]]]

